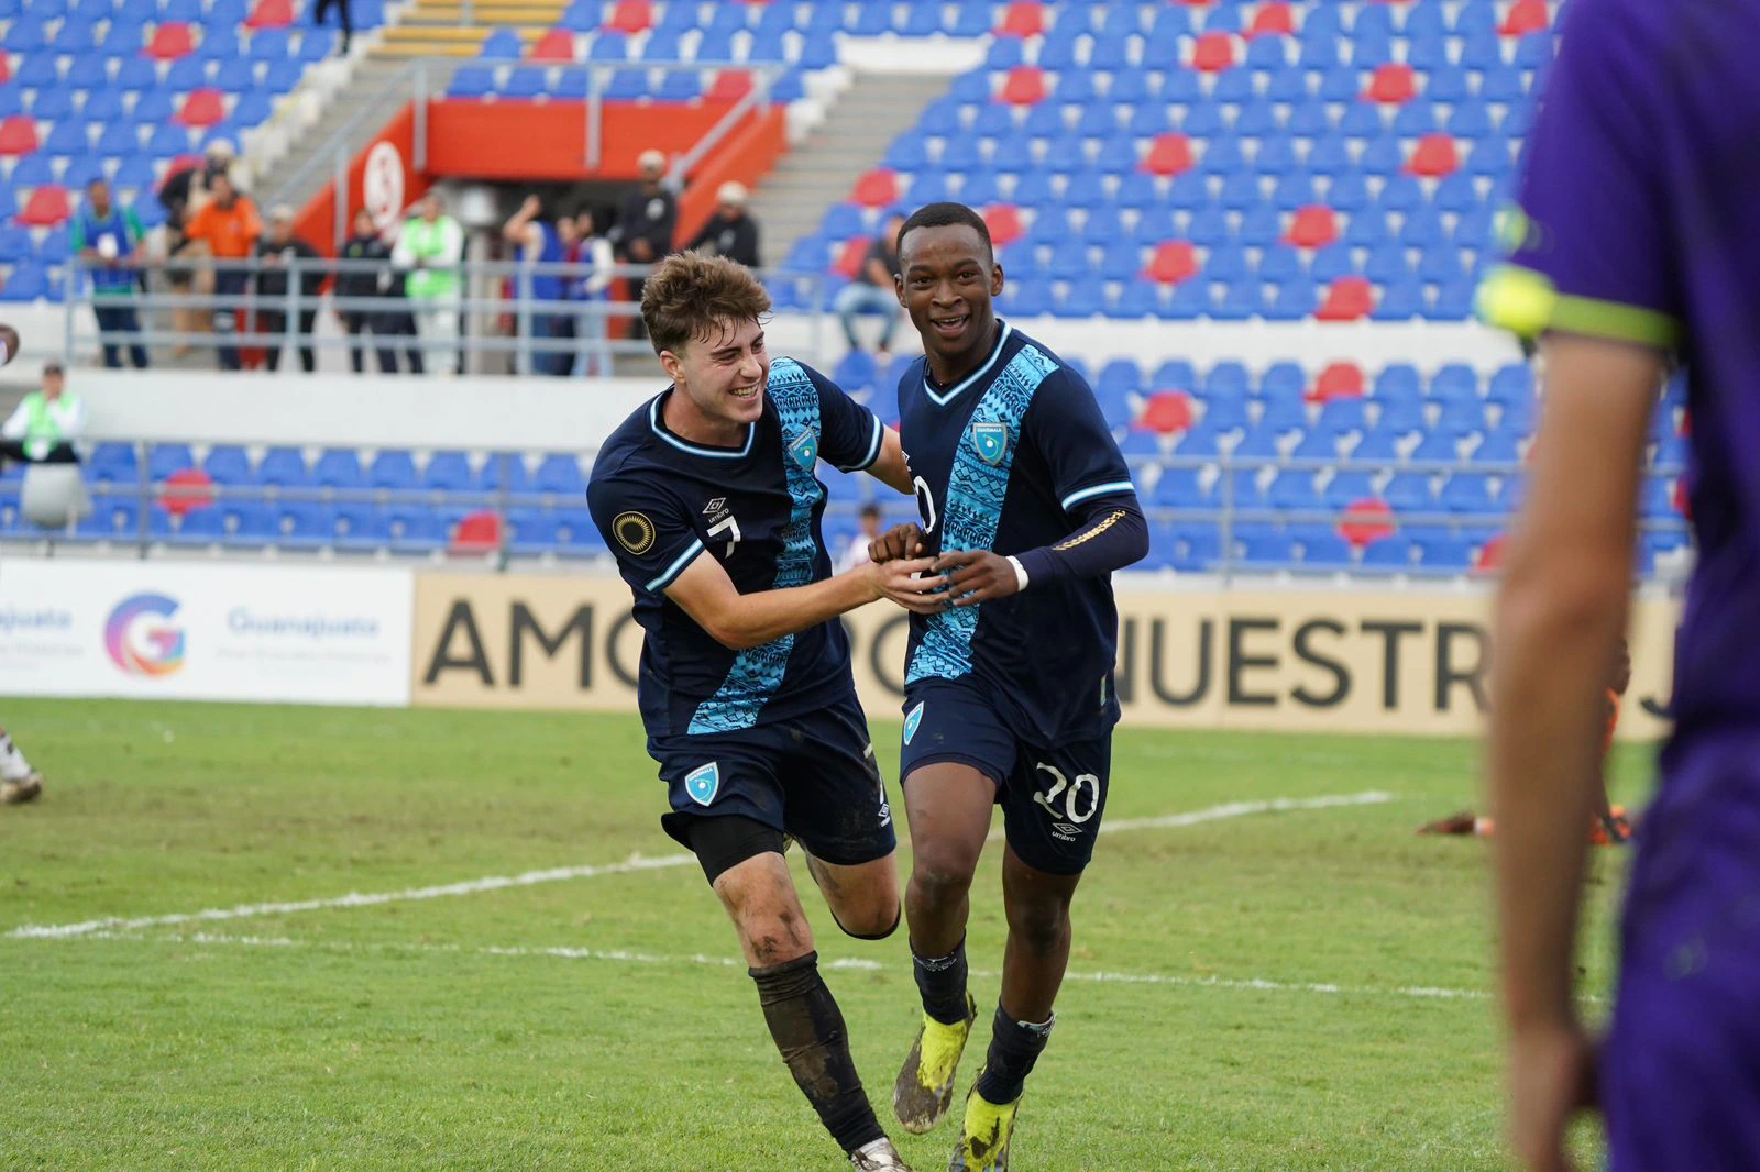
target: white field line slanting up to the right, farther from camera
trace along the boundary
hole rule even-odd
[[[1285,813],[1294,809],[1331,809],[1336,806],[1373,806],[1392,801],[1392,794],[1378,790],[1364,794],[1343,794],[1332,797],[1278,797],[1264,802],[1228,802],[1193,809],[1190,813],[1167,815],[1160,818],[1126,818],[1114,824],[1102,824],[1102,832],[1118,834],[1121,831],[1151,831],[1199,825],[1202,822],[1221,822],[1227,818],[1244,818],[1248,815]],[[1001,831],[993,831],[991,839],[1001,838]],[[560,883],[565,880],[598,878],[602,875],[630,875],[634,871],[662,871],[693,864],[695,855],[656,855],[653,859],[632,857],[625,862],[607,862],[581,868],[551,868],[547,871],[524,871],[521,875],[489,875],[486,878],[465,880],[461,883],[442,883],[438,887],[408,887],[405,890],[350,892],[327,899],[296,899],[290,903],[246,903],[234,908],[204,908],[201,912],[172,912],[169,915],[143,915],[136,919],[106,917],[100,920],[81,920],[77,924],[21,924],[7,933],[12,940],[67,940],[72,936],[90,936],[102,931],[139,931],[143,927],[176,927],[180,924],[209,924],[216,920],[243,920],[257,915],[292,915],[297,912],[324,912],[329,908],[371,908],[385,903],[408,903],[415,899],[444,899],[452,896],[479,896],[488,890],[507,890],[509,887],[535,887],[537,883]]]

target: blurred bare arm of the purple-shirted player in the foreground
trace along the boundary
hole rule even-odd
[[[1547,410],[1498,593],[1491,811],[1512,1132],[1529,1167],[1559,1158],[1593,1096],[1572,1005],[1586,836],[1602,778],[1603,699],[1619,656],[1633,517],[1661,357],[1621,341],[1547,341]]]

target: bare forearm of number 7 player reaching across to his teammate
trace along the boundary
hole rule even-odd
[[[869,563],[810,586],[743,595],[720,561],[697,558],[665,593],[716,642],[744,651],[818,626],[880,598],[891,598],[919,614],[938,611],[940,602],[924,595],[926,582],[915,579],[926,568],[928,558]]]

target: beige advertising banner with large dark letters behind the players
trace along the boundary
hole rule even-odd
[[[1489,699],[1489,593],[1121,588],[1126,725],[1477,734]],[[1633,605],[1621,736],[1667,732],[1677,607]],[[903,611],[847,616],[869,716],[903,700]],[[642,632],[612,577],[422,574],[415,704],[635,709]]]

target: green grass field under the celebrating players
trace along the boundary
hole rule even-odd
[[[0,1168],[843,1167],[695,866],[583,871],[678,855],[634,716],[0,714],[49,778],[0,809]],[[896,737],[876,729],[889,778]],[[1109,822],[1390,799],[1105,836],[1014,1167],[1507,1168],[1484,848],[1412,834],[1473,802],[1475,769],[1466,741],[1121,732]],[[1642,795],[1646,750],[1614,769]],[[994,862],[973,892],[980,1005]],[[1598,852],[1589,993],[1616,868]],[[845,940],[804,899],[887,1121],[917,1019],[903,934]],[[320,906],[246,906],[297,901]],[[141,922],[209,908],[241,913]],[[896,1139],[940,1172],[950,1128]]]

